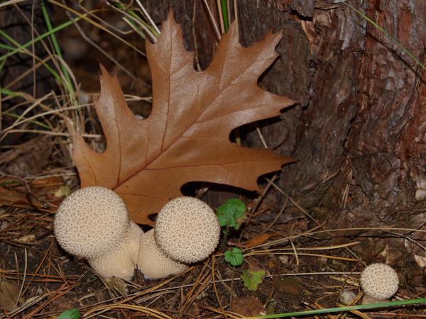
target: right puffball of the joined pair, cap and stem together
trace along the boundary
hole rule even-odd
[[[217,247],[220,226],[203,201],[178,197],[158,213],[155,226],[143,234],[138,268],[148,279],[179,274],[187,264],[209,257]]]

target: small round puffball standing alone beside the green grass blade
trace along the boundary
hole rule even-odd
[[[361,273],[363,303],[386,301],[398,291],[398,274],[387,264],[371,264]]]

